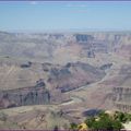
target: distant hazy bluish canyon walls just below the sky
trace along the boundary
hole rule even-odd
[[[98,52],[122,52],[130,55],[130,33],[3,33],[0,32],[0,55],[28,59],[57,59],[64,48],[64,55],[94,58]],[[123,44],[124,43],[124,44]],[[76,48],[76,53],[74,53]],[[126,50],[128,49],[128,52]],[[58,56],[57,56],[58,55]],[[64,59],[63,55],[63,59]]]

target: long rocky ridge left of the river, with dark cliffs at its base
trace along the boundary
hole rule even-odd
[[[1,60],[0,71],[1,108],[61,104],[71,100],[62,93],[90,85],[102,80],[106,74],[104,70],[85,62],[68,62],[66,66],[60,66],[48,62]]]

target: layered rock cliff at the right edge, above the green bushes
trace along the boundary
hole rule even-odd
[[[121,111],[131,110],[131,67],[122,66],[118,76],[121,76],[118,85],[114,86],[110,93],[110,99],[116,109]],[[117,78],[116,78],[117,79]]]

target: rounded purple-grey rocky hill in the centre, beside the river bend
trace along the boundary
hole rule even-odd
[[[68,63],[60,68],[52,68],[48,83],[50,83],[52,88],[64,93],[99,81],[104,76],[105,72],[103,70],[87,63],[76,62]]]

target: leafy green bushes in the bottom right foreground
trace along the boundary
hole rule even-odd
[[[97,116],[87,117],[84,121],[92,130],[120,130],[122,123],[131,121],[131,115],[128,112],[116,111],[114,114],[100,111]],[[72,130],[79,130],[79,126],[71,123]]]

